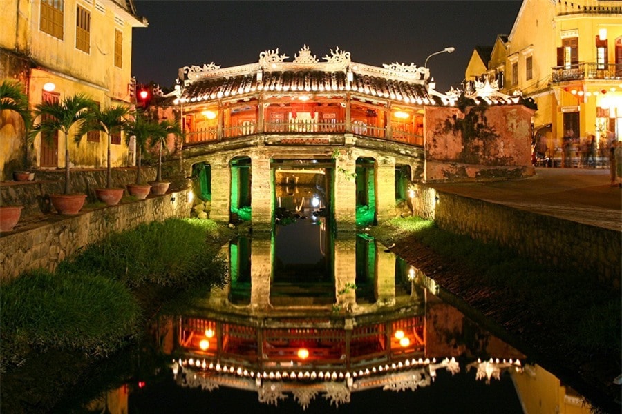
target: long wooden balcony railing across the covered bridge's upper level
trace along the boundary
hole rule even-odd
[[[351,131],[355,135],[363,137],[386,139],[388,141],[400,142],[403,144],[422,146],[423,135],[418,135],[413,131],[413,126],[408,124],[395,124],[389,133],[384,126],[372,126],[363,122],[352,121]],[[185,133],[186,144],[207,143],[210,141],[220,141],[243,137],[258,132],[267,134],[343,134],[346,130],[345,121],[336,122],[317,122],[313,119],[294,119],[287,122],[264,122],[263,131],[260,130],[258,123],[246,123],[236,126],[225,126],[221,128],[219,134],[217,126],[201,128],[196,131]],[[299,140],[296,140],[296,142]],[[310,141],[311,142],[311,141]]]

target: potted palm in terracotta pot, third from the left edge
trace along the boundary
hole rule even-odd
[[[80,128],[79,136],[91,130],[104,132],[106,134],[106,144],[108,155],[106,157],[106,188],[95,188],[97,199],[103,201],[108,206],[116,206],[123,197],[124,189],[115,188],[111,184],[111,137],[115,132],[120,132],[125,124],[124,117],[129,114],[129,108],[125,106],[111,106],[100,110],[97,106],[88,112],[88,118]]]

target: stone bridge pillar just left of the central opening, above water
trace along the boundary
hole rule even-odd
[[[253,230],[272,230],[272,171],[270,155],[256,152],[252,156],[251,214]]]

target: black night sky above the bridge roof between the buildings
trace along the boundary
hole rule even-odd
[[[428,67],[446,92],[464,79],[475,46],[509,34],[521,1],[205,1],[135,0],[149,27],[133,32],[132,75],[170,88],[183,66],[256,63],[279,48],[292,61],[303,45],[323,61],[330,50],[373,66]]]

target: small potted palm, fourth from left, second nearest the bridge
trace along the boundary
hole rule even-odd
[[[140,176],[142,152],[147,148],[150,137],[162,134],[160,125],[144,113],[136,111],[133,118],[125,122],[123,130],[125,131],[126,144],[129,145],[132,137],[134,137],[136,144],[136,181],[134,184],[127,185],[127,191],[138,199],[144,199],[149,195],[151,185],[144,183]]]

